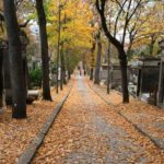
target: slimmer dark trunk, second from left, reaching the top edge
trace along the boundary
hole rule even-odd
[[[43,65],[43,98],[46,101],[51,101],[50,85],[49,85],[48,42],[46,30],[47,22],[43,3],[44,3],[43,0],[36,0],[36,9],[40,35],[42,65]]]

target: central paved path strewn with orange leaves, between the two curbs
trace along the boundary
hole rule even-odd
[[[75,79],[35,164],[164,163],[163,152]]]

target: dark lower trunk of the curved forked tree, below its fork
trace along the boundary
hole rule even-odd
[[[121,69],[122,103],[129,103],[127,56],[124,48],[119,49],[119,63]]]

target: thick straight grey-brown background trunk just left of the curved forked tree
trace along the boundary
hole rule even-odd
[[[102,42],[101,42],[101,32],[97,35],[97,56],[96,56],[96,69],[94,75],[94,83],[99,84],[101,82],[101,57],[102,57]]]

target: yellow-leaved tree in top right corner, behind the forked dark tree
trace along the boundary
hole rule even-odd
[[[142,2],[144,1],[142,0]],[[132,17],[133,23],[128,26],[129,46],[127,55],[131,55],[133,49],[148,47],[148,55],[154,56],[159,50],[157,42],[164,36],[164,3],[152,1],[151,4],[149,2],[144,4]]]

